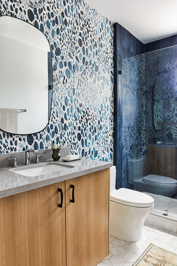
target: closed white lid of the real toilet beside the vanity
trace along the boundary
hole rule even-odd
[[[111,192],[110,200],[132,207],[151,207],[154,205],[154,199],[151,196],[125,188],[115,189]]]

